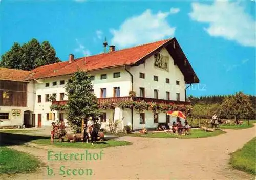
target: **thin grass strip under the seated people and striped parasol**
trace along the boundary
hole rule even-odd
[[[132,133],[132,134],[127,134],[126,136],[136,136],[136,137],[147,137],[147,138],[205,138],[209,136],[217,136],[220,134],[224,134],[226,132],[222,130],[214,130],[213,132],[205,132],[202,131],[201,129],[192,129],[190,130],[189,134],[184,136],[184,135],[177,135],[177,134],[166,134],[165,132],[148,132],[147,134],[142,134],[142,133]]]

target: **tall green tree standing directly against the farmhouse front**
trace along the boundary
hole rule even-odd
[[[66,108],[68,124],[75,133],[81,131],[82,118],[98,117],[98,101],[92,89],[90,75],[84,71],[75,72],[65,86],[69,100]]]

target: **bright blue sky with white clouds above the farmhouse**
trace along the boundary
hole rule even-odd
[[[255,95],[255,0],[0,0],[1,48],[49,41],[68,60],[176,37],[200,83],[187,95]]]

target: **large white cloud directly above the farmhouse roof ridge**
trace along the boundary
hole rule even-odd
[[[152,42],[174,36],[175,27],[170,27],[166,18],[170,12],[153,14],[150,9],[138,16],[127,18],[118,30],[111,29],[111,44],[118,48]]]

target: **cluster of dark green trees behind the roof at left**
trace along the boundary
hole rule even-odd
[[[60,62],[54,48],[48,41],[40,44],[35,38],[22,46],[15,42],[12,48],[1,56],[0,66],[19,70],[32,70],[41,65]]]

